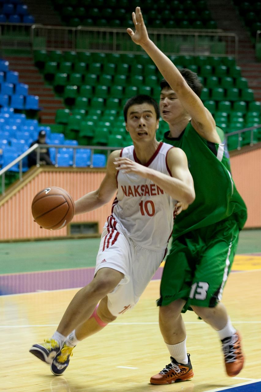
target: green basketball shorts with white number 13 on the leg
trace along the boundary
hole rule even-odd
[[[217,222],[180,236],[172,243],[161,279],[157,304],[185,299],[191,305],[215,307],[236,253],[239,228],[234,220]]]

